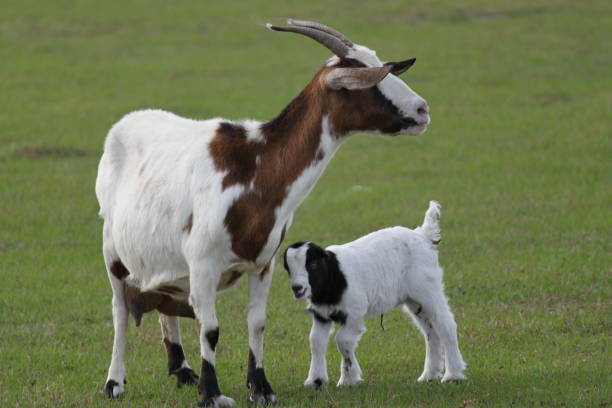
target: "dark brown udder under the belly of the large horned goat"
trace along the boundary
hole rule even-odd
[[[154,309],[167,316],[195,318],[193,308],[185,301],[175,300],[168,295],[156,292],[141,292],[136,286],[125,284],[127,309],[140,326],[142,315]]]

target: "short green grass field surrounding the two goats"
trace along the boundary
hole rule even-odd
[[[296,213],[297,240],[346,242],[443,206],[440,259],[469,379],[419,384],[425,347],[396,311],[367,322],[365,382],[302,386],[310,318],[282,263],[266,370],[278,406],[612,404],[612,6],[606,0],[35,1],[0,5],[0,406],[189,407],[155,314],[130,322],[125,396],[101,389],[111,291],[94,194],[110,126],[157,107],[274,117],[329,52],[266,30],[319,20],[386,60],[431,107],[418,138],[353,135]],[[221,389],[247,406],[247,282],[218,298]],[[186,354],[199,367],[195,325]]]

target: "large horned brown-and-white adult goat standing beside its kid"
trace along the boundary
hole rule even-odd
[[[293,214],[352,131],[418,135],[427,103],[396,75],[414,59],[381,62],[319,23],[267,25],[310,37],[334,56],[274,119],[191,120],[161,110],[124,116],[109,131],[96,179],[115,330],[105,385],[124,392],[128,314],[157,310],[170,374],[198,384],[201,406],[232,406],[215,374],[216,295],[249,275],[247,385],[276,396],[263,368],[274,257]],[[200,325],[201,373],[187,363],[178,317]]]

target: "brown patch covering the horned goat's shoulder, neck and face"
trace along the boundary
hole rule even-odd
[[[336,66],[364,65],[344,59]],[[222,188],[236,184],[246,188],[225,216],[232,250],[241,258],[257,259],[276,223],[275,210],[289,187],[306,168],[323,159],[324,116],[329,116],[338,138],[352,130],[394,133],[401,129],[397,109],[376,87],[360,91],[328,88],[324,78],[332,69],[323,67],[276,118],[260,127],[263,141],[249,139],[239,124],[222,122],[209,145],[215,168],[226,173]],[[251,183],[252,189],[248,188]]]

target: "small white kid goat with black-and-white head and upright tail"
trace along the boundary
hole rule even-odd
[[[457,344],[457,325],[444,295],[438,264],[440,210],[431,201],[421,227],[385,228],[344,245],[323,249],[298,242],[284,254],[285,269],[296,299],[307,299],[311,311],[311,362],[304,385],[328,381],[325,353],[331,322],[341,324],[336,335],[342,355],[338,386],[362,381],[355,349],[365,333],[364,317],[399,306],[423,333],[425,368],[419,381],[441,377],[464,379],[465,363]]]

